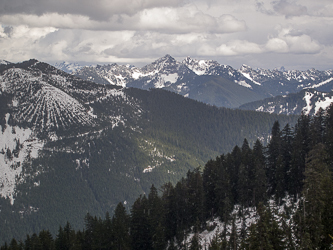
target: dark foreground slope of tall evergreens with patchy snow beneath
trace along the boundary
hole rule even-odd
[[[120,202],[112,217],[86,214],[84,230],[67,222],[2,249],[330,249],[333,105],[294,128],[276,121],[271,135],[152,185],[130,212]]]

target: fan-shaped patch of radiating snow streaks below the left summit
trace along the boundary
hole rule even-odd
[[[0,76],[0,82],[2,91],[13,96],[12,107],[16,112],[12,119],[16,121],[41,130],[93,123],[80,102],[45,82],[43,75],[13,68]]]

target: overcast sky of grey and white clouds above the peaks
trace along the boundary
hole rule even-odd
[[[333,65],[332,0],[1,0],[0,59]]]

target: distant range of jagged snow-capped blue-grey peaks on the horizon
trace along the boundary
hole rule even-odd
[[[101,84],[166,89],[209,105],[228,108],[298,93],[303,89],[313,88],[323,93],[333,89],[333,70],[254,70],[246,65],[236,70],[212,60],[187,57],[179,62],[170,55],[143,68],[118,64],[97,65],[73,70],[72,74]]]

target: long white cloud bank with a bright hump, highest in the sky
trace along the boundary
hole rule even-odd
[[[145,9],[135,15],[115,15],[109,20],[90,20],[87,16],[59,13],[37,15],[3,15],[0,22],[30,27],[56,27],[87,30],[151,30],[160,33],[212,32],[233,33],[246,30],[246,24],[232,15],[214,17],[193,5],[175,8]]]

